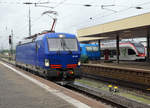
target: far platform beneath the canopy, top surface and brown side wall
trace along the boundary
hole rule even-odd
[[[96,62],[81,64],[84,76],[95,77],[109,83],[150,90],[150,63],[120,61],[119,64]]]

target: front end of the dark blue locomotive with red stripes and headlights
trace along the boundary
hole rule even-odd
[[[45,66],[48,76],[57,79],[74,80],[80,77],[80,48],[74,35],[55,34],[47,36]]]

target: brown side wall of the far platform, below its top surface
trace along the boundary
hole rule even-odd
[[[82,64],[83,77],[107,81],[141,90],[150,88],[150,70]]]

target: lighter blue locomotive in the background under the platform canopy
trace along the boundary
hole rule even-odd
[[[87,58],[88,60],[100,59],[100,51],[98,44],[80,44],[80,48],[81,57]]]

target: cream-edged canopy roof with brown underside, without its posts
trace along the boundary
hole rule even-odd
[[[134,38],[146,37],[150,29],[150,13],[77,30],[78,37]]]

